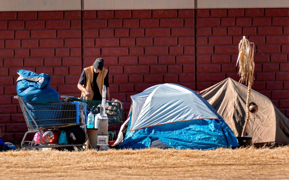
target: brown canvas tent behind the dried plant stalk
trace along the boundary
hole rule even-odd
[[[200,92],[218,114],[230,126],[235,136],[241,136],[246,117],[247,86],[227,78]],[[259,111],[250,113],[247,135],[258,147],[289,144],[289,119],[284,116],[269,98],[252,89],[250,102],[255,102]]]

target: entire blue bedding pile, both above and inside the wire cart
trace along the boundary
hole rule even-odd
[[[36,74],[30,70],[17,70],[19,77],[17,79],[17,94],[24,101],[32,117],[40,128],[60,125],[61,105],[48,104],[59,102],[59,93],[49,87],[51,77],[48,74]],[[27,113],[27,112],[26,112]],[[31,117],[27,113],[30,125],[35,126]]]

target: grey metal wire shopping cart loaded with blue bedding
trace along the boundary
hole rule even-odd
[[[80,126],[86,133],[86,103],[82,102],[51,102],[48,104],[36,104],[31,101],[24,101],[22,97],[15,96],[19,100],[28,131],[21,142],[23,148],[58,148],[58,147],[82,147],[85,144],[56,144],[45,143],[40,138],[40,143],[26,141],[27,134],[55,128],[66,128]],[[86,139],[86,137],[85,137]]]

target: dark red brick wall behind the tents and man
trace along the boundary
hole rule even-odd
[[[27,126],[16,95],[16,71],[52,77],[60,95],[78,97],[84,67],[97,57],[109,71],[110,97],[160,83],[201,91],[238,80],[238,44],[255,43],[253,89],[289,117],[289,9],[0,12],[0,128],[20,141]],[[124,115],[127,116],[127,113]]]

